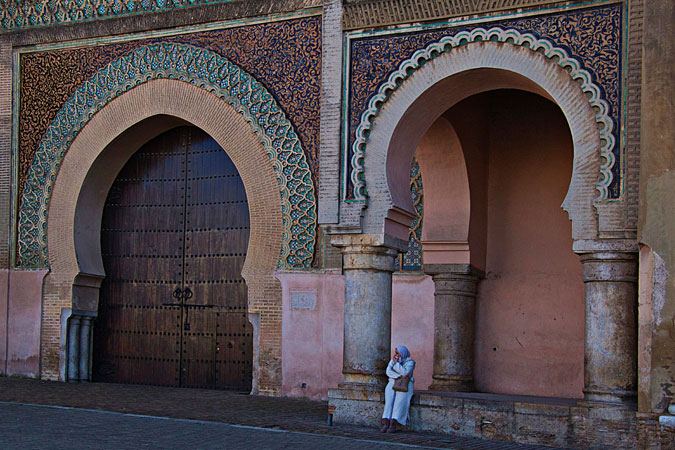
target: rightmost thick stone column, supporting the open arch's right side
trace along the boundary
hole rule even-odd
[[[637,389],[637,255],[581,255],[586,288],[584,396],[634,398]]]

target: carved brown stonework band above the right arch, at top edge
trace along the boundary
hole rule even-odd
[[[556,3],[552,0],[370,0],[345,2],[346,30],[445,19]]]

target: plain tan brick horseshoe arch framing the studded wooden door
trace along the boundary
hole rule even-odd
[[[112,100],[82,128],[54,182],[47,222],[51,273],[45,291],[55,294],[64,308],[71,307],[72,299],[74,310],[93,309],[98,296],[96,280],[104,276],[96,224],[100,224],[107,191],[135,150],[184,123],[213,137],[227,151],[244,183],[251,239],[243,276],[248,286],[249,317],[256,328],[253,390],[274,389],[275,367],[267,369],[272,373],[257,370],[261,351],[257,344],[263,342],[265,352],[276,348],[273,339],[259,338],[266,337],[268,326],[274,328],[264,307],[271,304],[280,308],[281,292],[273,276],[281,251],[283,222],[277,178],[270,158],[244,117],[204,89],[177,80],[149,81]],[[61,333],[62,348],[65,341],[65,333]],[[56,343],[44,344],[51,347]],[[62,365],[64,360],[61,358]]]

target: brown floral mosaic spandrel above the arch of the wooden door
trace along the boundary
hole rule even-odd
[[[205,48],[253,76],[274,96],[302,141],[318,186],[321,95],[321,17],[21,55],[19,192],[38,143],[77,88],[135,48],[174,42]]]

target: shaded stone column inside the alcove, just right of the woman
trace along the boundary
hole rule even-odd
[[[434,280],[434,374],[429,387],[473,390],[476,293],[480,272],[469,264],[425,265]]]

